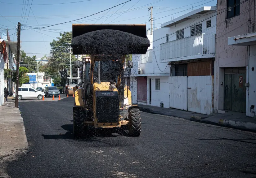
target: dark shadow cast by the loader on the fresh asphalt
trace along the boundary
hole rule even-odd
[[[42,135],[44,139],[75,139],[74,134],[73,134],[73,124],[65,124],[62,125],[61,128],[64,130],[68,131],[65,134],[58,134],[58,135]],[[96,138],[96,137],[117,137],[117,136],[127,136],[129,137],[130,135],[126,133],[122,129],[118,128],[113,128],[113,129],[95,129],[89,127],[87,130],[87,133],[85,136],[81,137],[79,140],[84,140],[84,141],[90,141],[91,138]]]

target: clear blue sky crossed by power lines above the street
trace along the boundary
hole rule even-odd
[[[60,32],[72,31],[72,23],[146,23],[147,28],[150,28],[150,22],[147,22],[149,20],[148,7],[152,5],[153,18],[155,19],[154,26],[155,28],[160,28],[160,25],[162,23],[171,20],[171,18],[177,18],[178,16],[192,11],[192,6],[193,10],[195,10],[202,6],[215,6],[217,3],[217,0],[132,0],[125,3],[124,5],[112,8],[108,11],[93,15],[88,18],[84,18],[82,20],[43,28],[41,30],[25,29],[32,27],[38,28],[38,24],[39,27],[45,27],[52,24],[58,24],[70,20],[79,19],[113,7],[115,6],[115,4],[126,2],[127,0],[89,0],[86,2],[79,1],[83,0],[8,0],[4,1],[5,3],[0,2],[2,7],[2,10],[0,12],[0,32],[6,33],[5,29],[8,28],[10,29],[9,33],[13,34],[15,33],[13,29],[16,29],[16,24],[18,24],[18,22],[26,25],[26,27],[22,27],[21,30],[21,49],[24,50],[26,53],[31,53],[27,54],[29,56],[36,55],[38,58],[41,58],[44,55],[49,55],[49,52],[51,50],[50,41],[56,39],[55,37],[59,37]],[[30,6],[27,5],[28,2],[29,5],[32,2],[31,10]],[[0,35],[2,36],[2,34]],[[16,34],[11,35],[11,40],[17,41]]]

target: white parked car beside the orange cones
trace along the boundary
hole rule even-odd
[[[16,93],[14,92],[14,97],[16,96]],[[22,98],[38,98],[43,99],[43,96],[45,94],[41,91],[37,91],[36,89],[33,89],[32,87],[19,87],[19,95],[18,99],[21,100]]]

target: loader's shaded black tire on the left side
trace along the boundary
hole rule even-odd
[[[74,109],[73,111],[73,133],[74,138],[83,137],[85,134],[85,127],[84,127],[84,116],[82,109]]]

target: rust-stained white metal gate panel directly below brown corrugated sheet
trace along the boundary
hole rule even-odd
[[[187,110],[202,114],[211,114],[212,76],[187,77]]]

